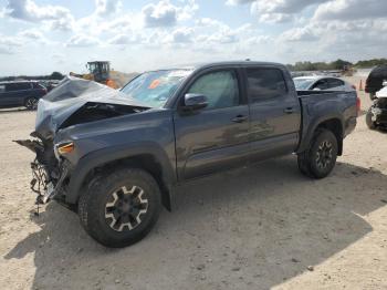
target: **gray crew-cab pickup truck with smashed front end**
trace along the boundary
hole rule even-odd
[[[76,210],[107,247],[144,238],[187,180],[292,153],[306,176],[327,176],[359,108],[356,92],[296,92],[284,65],[251,61],[146,72],[121,92],[61,99],[65,87],[18,142],[36,153],[38,203]]]

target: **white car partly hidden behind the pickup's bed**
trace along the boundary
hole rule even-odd
[[[333,76],[299,76],[294,77],[295,90],[297,91],[356,91],[356,87],[338,77]]]

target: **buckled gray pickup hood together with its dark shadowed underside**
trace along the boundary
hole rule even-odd
[[[70,126],[77,121],[93,122],[147,108],[149,107],[121,91],[93,81],[66,76],[39,101],[34,135],[50,139],[64,124]]]

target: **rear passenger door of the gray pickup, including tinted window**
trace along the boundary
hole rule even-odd
[[[250,102],[251,160],[294,152],[299,142],[301,107],[278,68],[247,68]]]

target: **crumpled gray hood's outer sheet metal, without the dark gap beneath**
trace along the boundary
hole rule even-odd
[[[143,111],[148,108],[121,91],[93,81],[66,76],[54,90],[39,101],[34,135],[45,139],[53,138],[61,125],[80,108],[85,105],[93,108],[93,105],[95,107],[104,104],[106,104],[105,107],[117,105]],[[90,112],[82,113],[88,114]],[[85,118],[84,115],[83,118]]]

